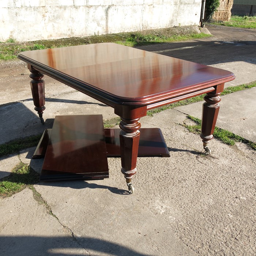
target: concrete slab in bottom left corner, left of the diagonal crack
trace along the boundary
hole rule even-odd
[[[0,199],[0,208],[1,256],[87,255],[70,231],[35,201],[31,189]]]

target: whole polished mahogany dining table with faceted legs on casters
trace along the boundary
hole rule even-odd
[[[140,118],[154,109],[197,95],[204,96],[200,137],[206,154],[213,138],[220,94],[234,74],[114,43],[69,46],[22,52],[30,70],[35,110],[44,124],[44,74],[114,109],[120,116],[121,172],[128,190],[136,173]]]

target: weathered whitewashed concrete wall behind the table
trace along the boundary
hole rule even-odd
[[[0,41],[199,24],[201,0],[0,0]]]

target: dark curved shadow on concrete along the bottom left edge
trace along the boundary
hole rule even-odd
[[[0,237],[1,256],[23,255],[87,255],[88,250],[93,255],[146,256],[117,243],[100,240],[92,237],[33,237],[33,236],[7,236]],[[91,255],[90,253],[88,255]],[[148,254],[147,254],[148,256]]]

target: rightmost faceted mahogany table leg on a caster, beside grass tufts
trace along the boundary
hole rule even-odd
[[[221,97],[219,96],[224,89],[224,84],[220,84],[216,89],[204,96],[206,102],[203,103],[202,112],[202,129],[200,137],[203,141],[205,153],[211,154],[210,148],[208,148],[209,141],[213,138],[213,133],[219,113],[219,102]]]

